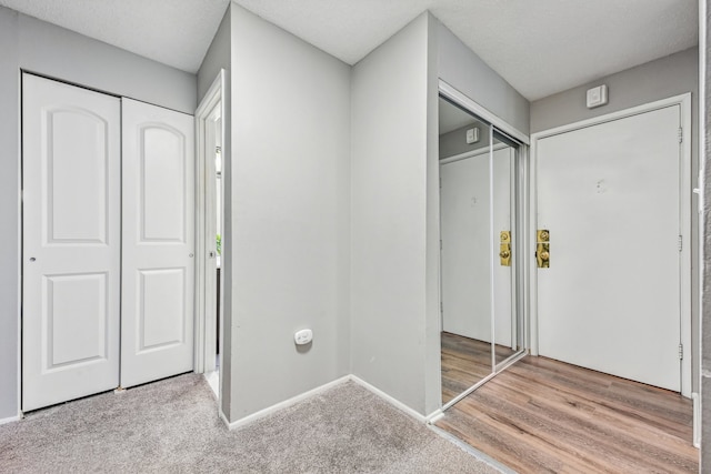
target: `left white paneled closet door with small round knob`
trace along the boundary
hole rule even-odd
[[[22,410],[119,385],[118,98],[22,75]]]

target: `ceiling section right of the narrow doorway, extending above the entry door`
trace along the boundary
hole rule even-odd
[[[430,10],[537,100],[698,44],[698,0],[236,0],[349,64]]]

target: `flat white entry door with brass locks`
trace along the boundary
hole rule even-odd
[[[680,117],[671,105],[538,141],[540,355],[680,391]]]

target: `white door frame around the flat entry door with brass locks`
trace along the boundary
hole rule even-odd
[[[544,130],[531,134],[531,172],[530,177],[530,194],[529,194],[529,215],[530,226],[528,230],[529,252],[531,255],[535,252],[535,230],[538,229],[538,142],[548,137],[560,133],[571,132],[588,127],[598,125],[614,120],[651,112],[670,105],[680,105],[681,109],[681,127],[683,138],[681,147],[680,163],[680,229],[683,245],[680,254],[680,279],[681,279],[681,343],[684,346],[684,357],[681,370],[681,393],[691,396],[691,93],[671,97],[668,99],[650,102],[643,105],[633,107],[631,109],[612,112],[605,115],[595,117],[588,120],[570,123],[554,129]],[[530,349],[532,355],[539,354],[538,344],[538,268],[530,265],[529,271],[530,284]]]

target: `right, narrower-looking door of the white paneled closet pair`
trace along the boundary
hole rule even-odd
[[[123,387],[193,369],[193,123],[123,99]]]

